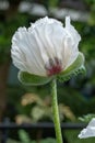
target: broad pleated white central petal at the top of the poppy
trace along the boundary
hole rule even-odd
[[[28,32],[35,37],[44,61],[48,62],[49,58],[54,59],[58,56],[64,35],[62,24],[59,21],[46,16],[32,24]]]

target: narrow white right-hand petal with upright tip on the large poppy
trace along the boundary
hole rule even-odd
[[[68,47],[66,48],[68,52],[71,51],[70,58],[68,61],[68,64],[66,68],[68,68],[78,57],[79,55],[79,42],[81,41],[80,34],[76,32],[74,26],[71,25],[70,23],[70,16],[66,18],[66,32],[68,33],[68,36],[70,38],[68,43]],[[67,52],[67,53],[68,53]]]

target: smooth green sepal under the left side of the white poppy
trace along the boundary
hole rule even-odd
[[[51,80],[51,77],[32,75],[26,72],[19,72],[19,80],[27,86],[41,86],[48,84]]]

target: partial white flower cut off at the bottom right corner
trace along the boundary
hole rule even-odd
[[[83,129],[79,134],[80,139],[86,139],[92,136],[95,136],[95,118],[93,118],[88,125],[85,129]]]

